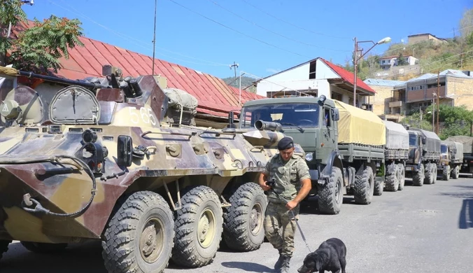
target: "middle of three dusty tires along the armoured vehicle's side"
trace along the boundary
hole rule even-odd
[[[179,265],[202,267],[213,261],[223,232],[218,195],[207,186],[187,189],[177,211],[172,259]]]

